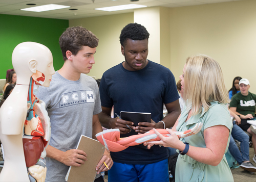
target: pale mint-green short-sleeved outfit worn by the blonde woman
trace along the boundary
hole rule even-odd
[[[198,134],[180,140],[189,143],[190,146],[205,148],[204,129],[215,125],[225,125],[230,131],[225,150],[226,153],[228,150],[231,129],[233,127],[230,114],[226,105],[223,103],[217,101],[212,101],[210,103],[211,107],[207,112],[202,109],[200,114],[191,116],[187,121],[186,119],[191,109],[191,105],[188,106],[189,109],[187,109],[187,106],[184,106],[176,129],[179,132],[183,132],[194,127],[196,123],[202,122],[203,127]],[[177,152],[179,151],[177,150]],[[203,164],[188,157],[186,154],[179,154],[176,164],[175,181],[233,181],[233,176],[225,154],[218,166]]]

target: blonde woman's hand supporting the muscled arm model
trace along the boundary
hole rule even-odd
[[[164,147],[172,147],[177,149],[184,149],[184,143],[181,142],[178,138],[178,136],[169,128],[166,128],[167,132],[170,133],[169,137],[162,136],[155,128],[154,132],[157,134],[157,136],[161,139],[160,141],[152,141],[152,142],[145,142],[144,146],[147,145],[147,149],[150,149],[153,145],[161,145]]]

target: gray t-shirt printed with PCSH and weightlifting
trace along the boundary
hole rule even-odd
[[[39,87],[36,96],[46,103],[51,146],[67,151],[76,148],[81,135],[92,138],[92,118],[101,112],[101,105],[98,85],[91,76],[81,74],[78,81],[70,81],[56,71],[50,87]],[[69,166],[50,158],[46,166],[46,181],[66,181]]]

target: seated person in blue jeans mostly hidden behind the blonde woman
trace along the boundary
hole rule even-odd
[[[241,127],[238,126],[241,123],[240,117],[234,114],[231,110],[229,110],[229,112],[230,115],[236,120],[233,121],[233,128],[228,149],[242,169],[250,172],[256,172],[256,167],[251,164],[249,157],[249,136],[243,131]],[[240,150],[234,139],[240,142]]]

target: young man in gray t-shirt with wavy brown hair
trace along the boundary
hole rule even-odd
[[[102,132],[98,85],[86,75],[95,63],[98,39],[87,29],[72,27],[60,36],[59,44],[65,62],[52,76],[50,87],[40,87],[36,94],[46,103],[52,127],[46,149],[46,181],[65,181],[69,166],[86,163],[86,152],[75,149],[80,136],[96,139],[95,135]],[[109,168],[113,165],[107,150],[96,167],[95,181],[104,181],[100,172],[108,169],[103,162]]]

